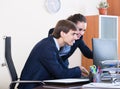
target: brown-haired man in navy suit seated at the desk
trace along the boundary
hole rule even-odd
[[[22,80],[49,80],[61,78],[80,78],[81,73],[88,74],[82,67],[67,68],[59,56],[59,49],[72,46],[77,39],[78,29],[69,20],[60,20],[53,35],[38,42],[31,51],[21,73]],[[18,89],[33,89],[37,85],[19,84]]]

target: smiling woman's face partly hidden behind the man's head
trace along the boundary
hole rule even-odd
[[[77,37],[79,39],[82,35],[84,35],[84,33],[86,31],[87,23],[78,21],[76,25],[78,27],[78,36]]]

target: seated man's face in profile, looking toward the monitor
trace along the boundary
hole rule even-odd
[[[78,31],[70,30],[68,33],[62,32],[62,38],[65,44],[72,46],[75,43],[75,40],[78,39],[77,37]]]

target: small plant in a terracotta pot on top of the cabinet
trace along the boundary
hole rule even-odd
[[[98,4],[99,14],[106,15],[108,7],[109,7],[108,2],[106,0],[101,0]]]

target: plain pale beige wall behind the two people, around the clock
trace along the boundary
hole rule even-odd
[[[48,30],[60,19],[71,14],[98,14],[98,0],[60,0],[61,8],[50,14],[44,6],[45,0],[0,0],[0,89],[7,89],[10,81],[4,62],[3,36],[12,37],[12,55],[18,75],[32,49],[42,38],[47,37]],[[77,50],[70,58],[70,66],[80,65],[81,55]],[[72,60],[74,59],[74,61]]]

